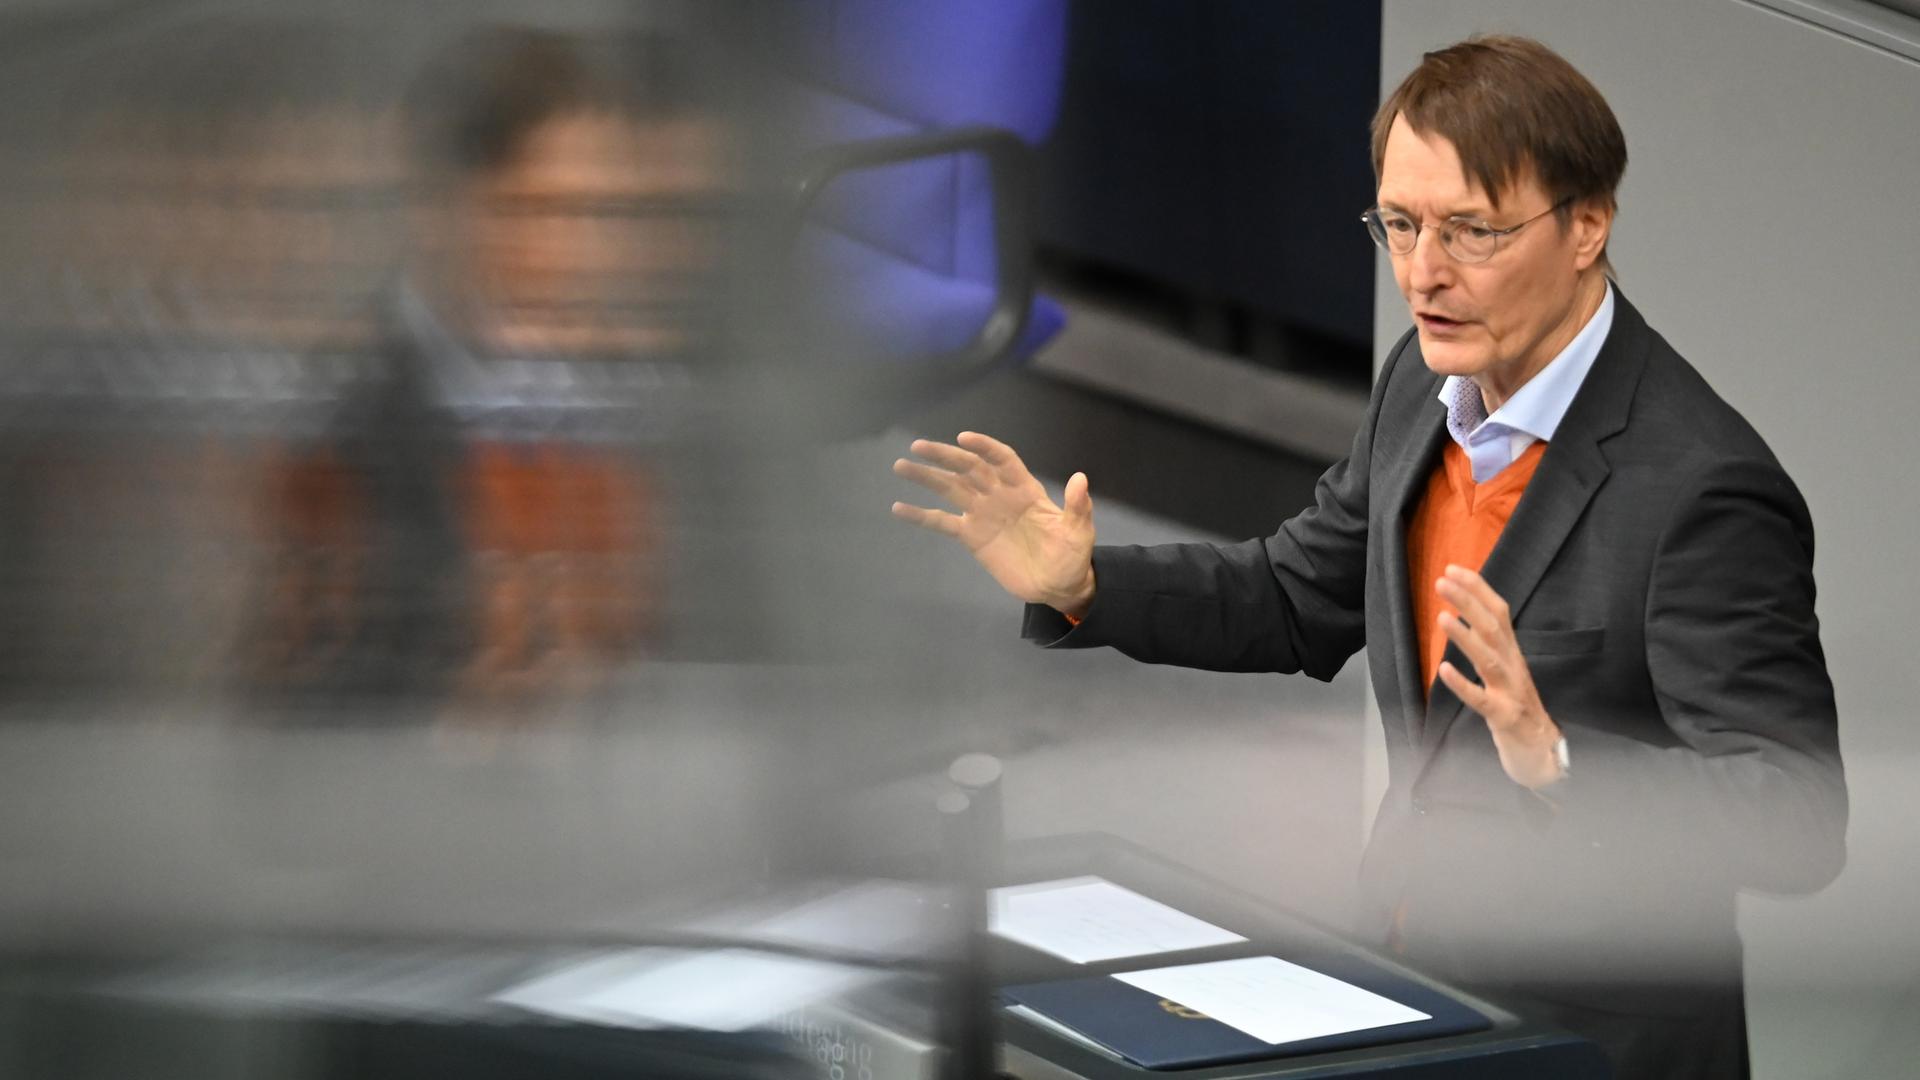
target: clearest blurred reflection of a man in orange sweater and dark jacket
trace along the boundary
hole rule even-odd
[[[428,61],[403,136],[417,196],[388,367],[346,409],[353,434],[284,473],[305,555],[275,640],[332,657],[332,690],[524,719],[655,634],[666,500],[611,382],[712,348],[724,127],[670,40],[493,27]]]

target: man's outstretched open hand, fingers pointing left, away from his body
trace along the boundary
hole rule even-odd
[[[916,457],[893,471],[958,509],[893,503],[893,515],[966,544],[1000,588],[1027,603],[1046,603],[1075,619],[1092,603],[1092,496],[1087,473],[1068,479],[1066,505],[1054,505],[1014,448],[964,430],[954,444],[916,438]]]

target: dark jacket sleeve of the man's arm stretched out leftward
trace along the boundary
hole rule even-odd
[[[1094,548],[1087,619],[1069,626],[1058,611],[1029,605],[1023,634],[1050,648],[1110,646],[1146,663],[1332,678],[1365,644],[1373,436],[1411,338],[1380,367],[1350,454],[1279,532],[1240,544]]]

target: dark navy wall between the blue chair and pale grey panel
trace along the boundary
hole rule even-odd
[[[1332,350],[1365,379],[1379,40],[1379,4],[1075,4],[1041,154],[1050,263],[1158,290],[1202,344]]]

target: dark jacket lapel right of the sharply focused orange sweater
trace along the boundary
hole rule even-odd
[[[1572,405],[1567,407],[1559,430],[1553,432],[1553,442],[1540,457],[1540,467],[1526,484],[1526,494],[1513,507],[1513,519],[1507,521],[1500,542],[1494,544],[1486,565],[1480,567],[1480,577],[1507,601],[1515,621],[1580,523],[1594,492],[1607,479],[1607,457],[1599,444],[1626,427],[1645,352],[1647,325],[1615,290],[1613,329],[1607,331],[1607,342],[1574,394]],[[1473,665],[1452,642],[1446,648],[1446,659],[1469,678],[1478,678]],[[1415,669],[1417,665],[1415,659]],[[1419,732],[1421,765],[1440,748],[1446,732],[1463,711],[1461,700],[1436,678]]]

